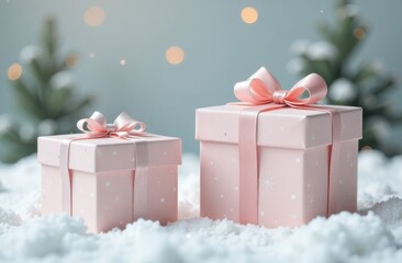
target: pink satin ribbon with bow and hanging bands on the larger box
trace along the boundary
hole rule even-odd
[[[243,108],[239,116],[239,222],[258,224],[258,152],[257,124],[261,112],[284,106],[327,112],[333,122],[333,145],[331,148],[330,174],[337,178],[339,116],[331,108],[320,108],[310,104],[324,99],[327,92],[325,80],[311,73],[297,82],[289,91],[282,90],[278,80],[264,67],[250,78],[237,82],[234,93],[241,103],[250,107]],[[304,94],[306,94],[304,96]],[[286,138],[283,138],[286,139]],[[330,192],[334,192],[332,187]],[[335,190],[336,191],[336,190]],[[331,195],[331,194],[330,194]],[[331,209],[331,208],[330,208]]]

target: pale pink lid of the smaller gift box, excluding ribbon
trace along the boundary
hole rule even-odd
[[[149,167],[180,164],[179,138],[147,134],[142,139],[85,138],[83,134],[44,136],[37,139],[37,160],[42,164],[59,165],[60,144],[71,141],[69,169],[85,172],[105,172],[135,168],[134,142],[137,158],[148,158]],[[146,146],[146,147],[144,147]]]

